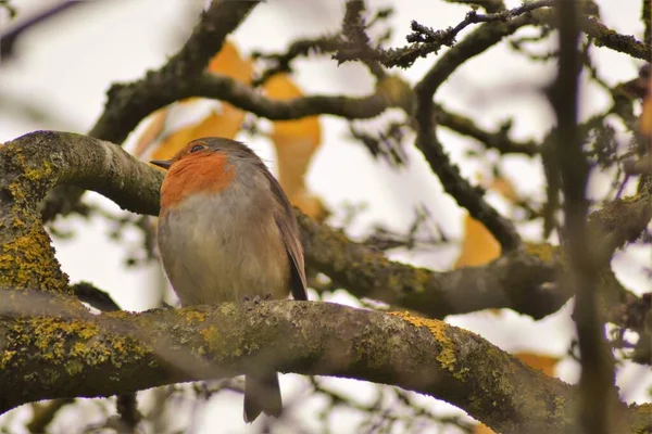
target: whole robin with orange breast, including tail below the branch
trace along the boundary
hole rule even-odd
[[[292,207],[278,181],[246,144],[191,141],[172,159],[161,186],[159,250],[183,306],[246,296],[308,299],[303,250]],[[283,409],[278,375],[249,373],[244,421]]]

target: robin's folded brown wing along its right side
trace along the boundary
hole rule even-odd
[[[292,297],[294,297],[294,299],[308,299],[308,294],[305,292],[308,284],[305,282],[303,247],[301,246],[301,240],[299,238],[299,227],[297,226],[294,210],[276,178],[274,178],[266,167],[263,168],[265,176],[269,180],[272,192],[280,205],[279,212],[275,216],[275,220],[280,230],[280,235],[283,237],[283,242],[285,243],[290,259],[290,290],[292,292]]]

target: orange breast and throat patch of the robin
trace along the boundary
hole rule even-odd
[[[196,193],[218,193],[235,177],[235,168],[223,153],[189,154],[175,162],[161,186],[161,215]]]

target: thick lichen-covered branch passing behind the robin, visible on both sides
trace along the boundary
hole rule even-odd
[[[156,215],[162,178],[160,170],[120,146],[87,136],[39,131],[7,143],[0,149],[0,191],[22,193],[0,195],[0,218],[11,222],[15,215],[27,214],[32,226],[8,224],[0,231],[5,286],[47,289],[46,283],[51,282],[60,290],[84,290],[83,285],[65,285],[45,232],[42,244],[25,244],[32,242],[29,228],[41,233],[34,209],[49,188],[62,183],[79,186],[105,195],[125,209]],[[651,213],[648,190],[616,201],[591,215],[593,238],[609,241],[616,248],[644,229]],[[341,232],[299,212],[298,218],[308,266],[325,272],[356,296],[436,318],[503,307],[542,318],[556,311],[569,297],[550,285],[555,280],[556,264],[556,250],[552,246],[531,245],[487,266],[435,272],[388,260],[383,253],[351,242]],[[24,257],[14,255],[18,247]],[[49,273],[43,275],[43,270]],[[57,277],[53,280],[52,273]],[[609,288],[612,294],[620,292],[615,284],[610,283]],[[92,295],[98,298],[98,294]]]

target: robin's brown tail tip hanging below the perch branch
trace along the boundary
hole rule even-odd
[[[249,374],[244,380],[244,422],[251,423],[261,412],[278,418],[283,411],[276,372]]]

